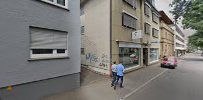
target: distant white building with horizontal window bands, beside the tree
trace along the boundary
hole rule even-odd
[[[184,55],[186,52],[185,35],[178,25],[173,25],[172,28],[175,30],[174,36],[174,46],[175,46],[175,56]]]

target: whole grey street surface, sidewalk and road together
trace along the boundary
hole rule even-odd
[[[92,82],[90,76],[94,76]],[[84,77],[88,82],[80,89],[43,100],[201,100],[202,77],[203,58],[199,54],[187,54],[179,58],[176,69],[155,64],[127,73],[124,88],[113,90],[110,78],[91,74],[87,79]]]

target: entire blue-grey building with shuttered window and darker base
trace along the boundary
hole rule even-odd
[[[80,1],[0,1],[0,99],[80,86]]]

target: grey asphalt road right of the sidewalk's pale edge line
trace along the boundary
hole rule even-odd
[[[180,60],[176,69],[166,69],[124,99],[203,100],[203,60],[197,59],[198,55],[190,56]]]

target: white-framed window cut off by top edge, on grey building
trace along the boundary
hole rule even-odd
[[[68,0],[41,0],[41,1],[68,9]]]

